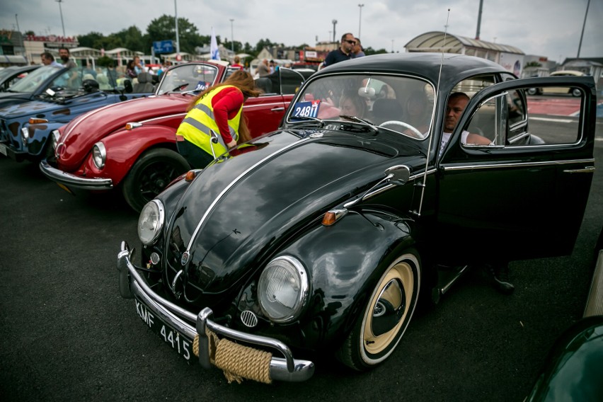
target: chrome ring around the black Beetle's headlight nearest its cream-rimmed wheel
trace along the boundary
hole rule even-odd
[[[270,278],[268,278],[268,275],[270,274],[270,269],[272,267],[280,265],[281,261],[285,264],[287,268],[289,268],[289,270],[285,268],[285,270],[287,270],[289,274],[291,274],[292,272],[295,274],[297,284],[299,285],[299,290],[297,290],[297,298],[295,300],[294,306],[289,309],[289,314],[281,314],[280,316],[275,316],[265,306],[265,303],[268,302],[268,300],[265,299],[265,297],[263,296],[262,290],[265,289],[263,282],[265,282],[266,280],[270,280]],[[272,280],[275,279],[272,278]],[[306,268],[304,268],[302,262],[299,261],[297,258],[292,257],[291,255],[280,255],[270,260],[270,263],[265,266],[262,273],[260,274],[260,278],[258,280],[258,304],[260,305],[260,309],[262,310],[263,314],[267,318],[269,318],[270,321],[273,321],[275,323],[289,323],[299,318],[299,315],[302,313],[302,309],[304,309],[304,306],[306,305],[306,301],[308,299],[309,287],[310,285],[308,272],[306,272]]]

